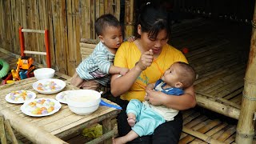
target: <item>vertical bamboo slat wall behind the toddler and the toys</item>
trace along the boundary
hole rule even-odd
[[[81,38],[97,38],[95,19],[102,14],[120,17],[118,0],[0,0],[0,47],[20,54],[18,28],[45,30],[50,33],[52,67],[74,74],[81,62]],[[43,34],[24,33],[25,49],[46,51]],[[45,56],[33,55],[46,65]]]

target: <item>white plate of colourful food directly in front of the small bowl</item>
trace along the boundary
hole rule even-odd
[[[50,82],[52,82],[52,84],[50,84]],[[50,86],[55,86],[55,88],[51,89]],[[65,86],[66,82],[55,78],[41,79],[33,83],[34,90],[41,94],[55,94],[62,91]]]

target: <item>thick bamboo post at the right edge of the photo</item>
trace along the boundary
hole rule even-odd
[[[242,97],[242,108],[238,119],[235,141],[237,143],[253,143],[254,112],[256,112],[256,3],[252,21],[252,35],[250,39],[250,54],[247,63],[245,85]]]

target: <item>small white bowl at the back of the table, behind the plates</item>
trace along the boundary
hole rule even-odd
[[[46,78],[54,78],[55,70],[52,68],[40,68],[34,70],[34,77],[38,80]]]

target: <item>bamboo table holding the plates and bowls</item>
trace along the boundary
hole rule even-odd
[[[65,78],[58,77],[59,79],[66,80]],[[31,125],[35,126],[34,129],[42,129],[50,134],[54,134],[58,138],[66,140],[70,135],[80,133],[85,127],[91,126],[94,123],[102,122],[103,136],[102,139],[110,138],[111,134],[114,134],[114,129],[112,130],[111,119],[115,118],[120,110],[114,108],[99,106],[93,114],[82,116],[74,114],[70,111],[66,104],[62,104],[62,108],[55,114],[46,117],[30,117],[23,114],[20,110],[21,104],[11,104],[6,102],[6,94],[9,94],[13,90],[31,90],[37,94],[37,98],[55,98],[56,94],[39,94],[32,87],[32,84],[36,82],[35,78],[26,78],[22,81],[15,82],[13,84],[0,86],[0,113],[4,110],[9,110],[13,113],[14,118],[9,118],[10,123],[18,122],[19,118],[29,122]],[[64,90],[77,90],[78,88],[71,86],[68,81],[66,82],[66,87]],[[106,102],[110,102],[104,99]],[[112,102],[112,104],[114,104]],[[7,115],[9,114],[6,113]],[[4,114],[5,116],[5,114]],[[9,116],[10,117],[10,116]],[[20,124],[22,125],[22,123]],[[13,126],[15,129],[15,126]],[[16,129],[15,129],[16,130]],[[18,131],[22,134],[22,131]],[[105,134],[105,135],[104,135]],[[107,134],[107,135],[106,135]],[[30,141],[36,138],[28,138]],[[110,142],[110,139],[108,140]]]

